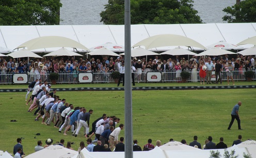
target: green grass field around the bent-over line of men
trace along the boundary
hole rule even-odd
[[[251,84],[254,85],[255,82]],[[97,84],[90,84],[88,87],[92,87],[91,85]],[[107,87],[107,84],[98,85]],[[111,85],[114,86],[114,84]],[[56,88],[57,86],[59,85],[56,85]],[[60,87],[66,86],[78,85]],[[17,88],[13,85],[10,87]],[[78,87],[85,86],[79,85]],[[4,87],[1,85],[1,88]],[[198,136],[198,141],[202,145],[209,135],[213,137],[215,143],[219,142],[219,137],[223,137],[228,147],[237,139],[238,134],[242,134],[243,141],[256,140],[255,92],[255,89],[133,91],[133,139],[137,139],[141,147],[147,144],[149,138],[153,140],[154,145],[156,140],[161,140],[164,144],[170,138],[175,141],[185,139],[189,143],[193,141],[194,135]],[[53,139],[54,142],[64,139],[65,145],[68,141],[75,142],[72,148],[77,150],[79,142],[86,140],[82,132],[78,137],[72,136],[71,132],[63,135],[53,127],[53,124],[42,125],[41,118],[40,122],[34,121],[33,113],[27,112],[25,94],[25,92],[0,93],[2,118],[0,120],[0,150],[12,153],[18,137],[25,138],[22,144],[26,155],[34,152],[38,140],[42,140],[45,145],[44,142],[48,138]],[[120,123],[124,123],[124,91],[71,91],[57,92],[57,94],[61,98],[66,98],[67,102],[73,104],[74,107],[83,106],[93,109],[91,123],[103,113],[108,116],[116,115],[121,118]],[[244,130],[237,130],[236,121],[232,129],[227,130],[231,120],[231,110],[238,101],[243,103],[239,113]],[[10,120],[18,122],[10,122]],[[35,135],[36,133],[41,133],[41,135]],[[124,130],[119,136],[124,136]]]

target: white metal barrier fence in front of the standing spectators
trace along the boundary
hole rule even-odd
[[[251,71],[254,71],[256,73],[255,69],[248,69]],[[114,82],[114,79],[111,77],[111,73],[113,71],[95,71],[95,72],[87,72],[87,73],[81,73],[78,71],[73,71],[72,73],[66,72],[66,71],[61,71],[58,72],[59,74],[59,79],[57,83],[110,83]],[[148,72],[157,72],[157,71],[147,71],[144,70],[140,73],[135,72],[135,82],[147,82],[147,73]],[[199,76],[199,71],[192,71],[188,70],[190,73],[190,77],[188,78],[188,82],[200,82],[200,76]],[[42,72],[40,74],[35,74],[35,73],[13,73],[13,72],[2,72],[0,74],[0,84],[15,84],[15,83],[24,83],[21,82],[24,80],[24,78],[27,78],[27,82],[25,83],[31,83],[35,81],[36,79],[42,78],[42,81],[47,81],[51,83],[49,80],[49,74],[51,72]],[[159,73],[159,72],[157,72]],[[179,72],[175,70],[170,70],[170,71],[165,71],[165,72],[160,72],[161,73],[161,80],[162,82],[180,82],[181,77],[179,76]],[[152,74],[152,73],[151,73]],[[245,81],[245,69],[243,70],[234,70],[233,71],[233,79],[235,81]],[[215,72],[213,71],[213,78],[212,81],[215,81]],[[221,72],[221,78],[222,81],[227,80],[227,74],[225,71]],[[13,81],[15,80],[15,81]],[[17,80],[17,81],[16,81]],[[84,80],[85,82],[81,82]],[[253,76],[252,80],[256,80],[256,75]]]

